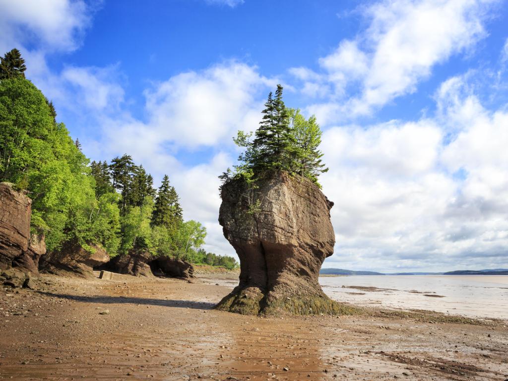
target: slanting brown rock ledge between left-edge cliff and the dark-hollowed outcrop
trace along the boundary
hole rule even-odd
[[[67,244],[60,250],[46,253],[39,262],[39,270],[55,275],[71,275],[83,278],[93,277],[93,268],[107,263],[110,259],[106,250],[91,245],[93,252],[77,244]]]

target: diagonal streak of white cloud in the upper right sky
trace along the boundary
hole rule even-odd
[[[364,115],[414,92],[432,68],[453,54],[471,49],[487,35],[484,19],[492,1],[387,0],[364,8],[369,27],[355,40],[343,40],[319,59],[314,83],[329,83],[335,96],[355,97],[316,104],[331,122],[342,115]],[[291,73],[291,72],[290,72]],[[292,72],[294,73],[294,72]],[[298,77],[297,77],[298,78]],[[354,88],[353,88],[354,86]],[[309,80],[302,88],[309,94]]]

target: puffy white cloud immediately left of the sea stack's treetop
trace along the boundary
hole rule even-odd
[[[229,144],[237,130],[257,128],[269,83],[235,61],[176,75],[146,92],[149,129],[180,147]]]

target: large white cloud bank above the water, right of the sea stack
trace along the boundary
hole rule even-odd
[[[325,132],[333,171],[322,182],[337,235],[326,266],[441,271],[506,262],[508,114],[484,109],[466,78],[440,86],[434,118]]]

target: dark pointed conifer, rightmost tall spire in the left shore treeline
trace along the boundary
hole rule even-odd
[[[169,184],[168,175],[164,175],[161,186],[157,190],[151,224],[174,229],[182,221],[182,208],[178,202],[178,194]]]

